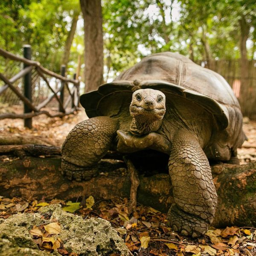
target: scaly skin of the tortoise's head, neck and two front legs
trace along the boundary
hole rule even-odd
[[[135,91],[130,106],[130,131],[118,130],[119,121],[107,116],[80,122],[63,144],[61,169],[70,180],[89,180],[97,175],[94,166],[110,149],[116,135],[121,152],[151,148],[170,154],[175,204],[167,218],[174,231],[200,236],[212,223],[217,204],[211,169],[195,132],[182,128],[175,132],[172,141],[157,133],[165,111],[163,93],[152,89]]]

